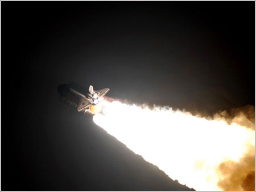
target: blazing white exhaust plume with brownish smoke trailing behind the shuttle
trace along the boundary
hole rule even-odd
[[[254,115],[205,118],[167,106],[102,104],[93,121],[180,184],[200,191],[255,190]]]

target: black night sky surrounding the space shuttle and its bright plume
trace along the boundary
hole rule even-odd
[[[209,115],[254,105],[254,6],[2,1],[2,190],[188,190],[57,86]]]

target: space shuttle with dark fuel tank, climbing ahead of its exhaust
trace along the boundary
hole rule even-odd
[[[58,87],[61,102],[73,106],[78,112],[89,112],[93,114],[100,113],[102,109],[100,103],[104,100],[104,96],[109,90],[109,88],[104,88],[94,91],[93,86],[90,86],[89,93],[87,93],[88,97],[86,97],[66,84]]]

